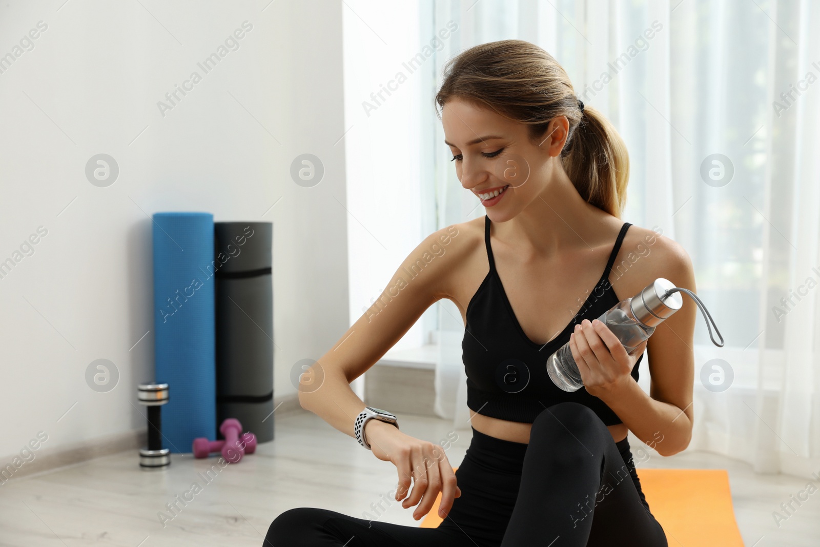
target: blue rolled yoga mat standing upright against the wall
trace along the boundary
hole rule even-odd
[[[167,383],[162,448],[189,453],[216,440],[213,215],[153,215],[154,346],[157,383]]]

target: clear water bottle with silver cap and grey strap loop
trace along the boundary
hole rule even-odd
[[[712,316],[700,301],[695,293],[689,289],[676,287],[671,281],[658,277],[651,285],[647,285],[635,296],[622,300],[615,304],[608,311],[604,312],[599,321],[612,330],[617,339],[621,341],[626,353],[632,355],[635,349],[648,339],[655,331],[655,327],[660,325],[672,313],[681,309],[683,298],[680,292],[689,294],[700,308],[700,311],[707,319],[706,326],[709,330],[709,338],[717,347],[723,347],[723,337],[717,330]],[[712,326],[720,338],[718,344],[712,336]],[[575,358],[572,357],[572,350],[569,342],[563,344],[558,351],[547,358],[547,372],[555,385],[564,391],[580,390],[584,382],[581,381],[581,373],[578,372]]]

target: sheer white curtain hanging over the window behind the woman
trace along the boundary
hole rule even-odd
[[[453,21],[458,31],[435,53],[422,104],[432,104],[450,57],[526,39],[562,63],[579,97],[626,140],[622,218],[686,248],[726,340],[714,346],[698,314],[690,449],[759,472],[820,472],[820,6],[468,0],[430,4],[429,16],[430,27]],[[435,117],[427,134],[435,178],[425,206],[436,228],[483,216]],[[464,326],[453,303],[437,306],[436,411],[466,428]]]

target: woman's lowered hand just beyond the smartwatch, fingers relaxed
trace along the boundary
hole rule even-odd
[[[379,420],[368,420],[364,434],[376,458],[393,463],[399,472],[396,501],[403,499],[403,508],[418,504],[412,517],[419,520],[430,512],[441,491],[439,516],[446,517],[461,489],[441,445],[406,435],[398,427]],[[412,492],[405,498],[411,479]]]

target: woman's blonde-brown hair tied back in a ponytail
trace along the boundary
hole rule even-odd
[[[443,110],[457,97],[529,125],[537,143],[549,121],[567,116],[569,131],[560,155],[564,171],[587,203],[621,217],[629,182],[626,144],[601,112],[586,105],[581,111],[567,72],[544,49],[524,40],[467,49],[444,64],[435,104]],[[441,117],[438,108],[436,114]]]

